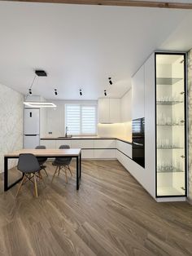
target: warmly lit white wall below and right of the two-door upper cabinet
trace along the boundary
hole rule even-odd
[[[98,135],[116,137],[132,141],[132,90],[129,89],[120,99],[121,123],[98,124]]]

